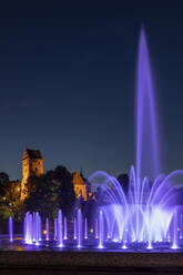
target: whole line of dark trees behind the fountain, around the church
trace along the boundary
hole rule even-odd
[[[84,179],[82,174],[81,176]],[[20,221],[27,211],[38,211],[43,221],[47,217],[53,220],[61,208],[63,215],[73,221],[77,211],[81,208],[83,216],[88,218],[89,224],[92,224],[98,207],[108,203],[105,192],[101,187],[91,192],[90,183],[84,179],[88,201],[85,202],[82,196],[77,200],[72,180],[72,173],[64,166],[48,171],[40,177],[30,177],[27,184],[28,196],[24,202],[21,202],[21,183],[19,181],[11,182],[8,174],[0,173],[0,217],[8,218],[11,215],[14,220]],[[121,174],[118,180],[124,192],[128,193],[128,174]]]

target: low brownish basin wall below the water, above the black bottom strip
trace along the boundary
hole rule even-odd
[[[183,268],[182,253],[3,251],[0,268]]]

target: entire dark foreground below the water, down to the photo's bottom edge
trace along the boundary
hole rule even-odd
[[[182,253],[0,252],[0,274],[183,274]]]

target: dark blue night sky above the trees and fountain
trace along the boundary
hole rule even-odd
[[[4,1],[6,2],[6,1]],[[23,147],[44,171],[129,172],[135,159],[139,32],[145,28],[164,172],[183,169],[182,1],[0,4],[0,171],[21,179]]]

